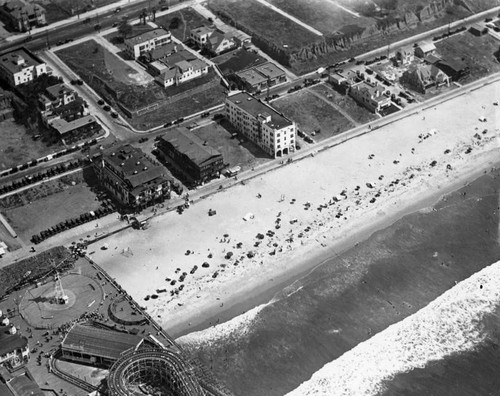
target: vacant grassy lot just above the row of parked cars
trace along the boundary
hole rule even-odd
[[[2,214],[19,237],[28,241],[34,234],[62,221],[99,209],[100,202],[95,198],[95,193],[84,183],[66,185],[58,193],[37,199],[31,204],[3,210]]]

